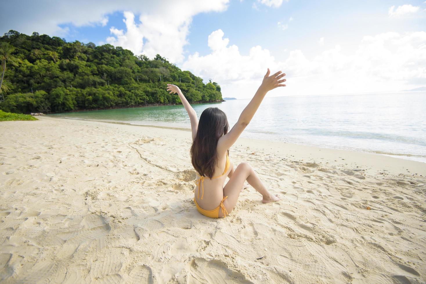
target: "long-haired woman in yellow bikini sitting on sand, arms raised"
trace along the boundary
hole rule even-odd
[[[253,99],[242,111],[238,121],[229,132],[228,120],[223,111],[219,108],[206,108],[198,121],[196,112],[178,86],[167,84],[167,91],[170,91],[170,94],[179,95],[191,121],[193,144],[190,154],[192,165],[197,171],[194,202],[198,211],[207,217],[222,218],[231,212],[246,180],[262,194],[263,203],[279,200],[277,195],[272,195],[266,189],[248,163],[242,162],[234,170],[233,163],[228,157],[229,148],[250,123],[266,93],[277,87],[285,87],[282,83],[286,80],[281,79],[285,74],[278,71],[269,76],[270,73],[268,68]],[[224,187],[227,176],[229,181]]]

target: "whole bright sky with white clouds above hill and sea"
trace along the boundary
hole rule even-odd
[[[395,92],[426,86],[424,0],[3,1],[0,34],[109,43],[166,57],[250,98],[267,68],[287,87],[268,96]]]

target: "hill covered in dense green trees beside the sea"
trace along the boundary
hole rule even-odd
[[[17,31],[0,37],[0,52],[7,51],[1,86],[3,111],[62,112],[180,103],[176,94],[166,91],[167,83],[178,85],[190,102],[222,100],[216,82],[204,84],[200,77],[181,71],[158,54],[151,60],[109,44],[67,43],[59,37]]]

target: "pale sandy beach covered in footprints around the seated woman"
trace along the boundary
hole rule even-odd
[[[224,219],[193,202],[190,131],[0,123],[3,283],[424,283],[426,163],[240,138],[281,198]]]

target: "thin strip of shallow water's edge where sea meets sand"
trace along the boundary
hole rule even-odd
[[[141,127],[153,127],[153,128],[164,128],[164,129],[171,129],[171,130],[181,130],[181,131],[191,131],[190,128],[180,128],[180,127],[172,127],[172,126],[163,126],[163,125],[144,125],[144,124],[132,124],[130,122],[122,122],[122,121],[106,121],[106,120],[97,120],[97,119],[82,119],[82,118],[72,118],[72,117],[58,117],[58,116],[52,116],[53,118],[59,118],[59,119],[73,119],[73,120],[82,120],[82,121],[92,121],[92,122],[104,122],[104,123],[112,123],[112,124],[121,124],[121,125],[131,125],[131,126],[141,126]],[[247,139],[247,140],[259,140],[259,143],[264,142],[277,142],[277,143],[284,143],[284,144],[290,144],[290,145],[298,145],[303,147],[311,147],[311,148],[318,148],[323,150],[333,150],[333,151],[348,151],[352,153],[364,153],[364,154],[371,154],[371,155],[377,155],[377,156],[387,156],[394,159],[401,159],[405,161],[412,161],[412,162],[418,162],[425,165],[425,174],[426,174],[426,162],[420,162],[413,159],[408,159],[409,156],[415,156],[410,154],[395,154],[395,153],[380,153],[380,151],[355,151],[355,150],[348,150],[348,149],[338,149],[338,148],[324,148],[319,146],[313,146],[313,145],[306,145],[306,144],[297,144],[294,142],[284,142],[274,139],[256,139],[256,138],[247,138],[247,137],[240,137],[239,139]],[[406,158],[403,158],[401,156],[404,156]],[[419,156],[415,156],[419,157]]]

